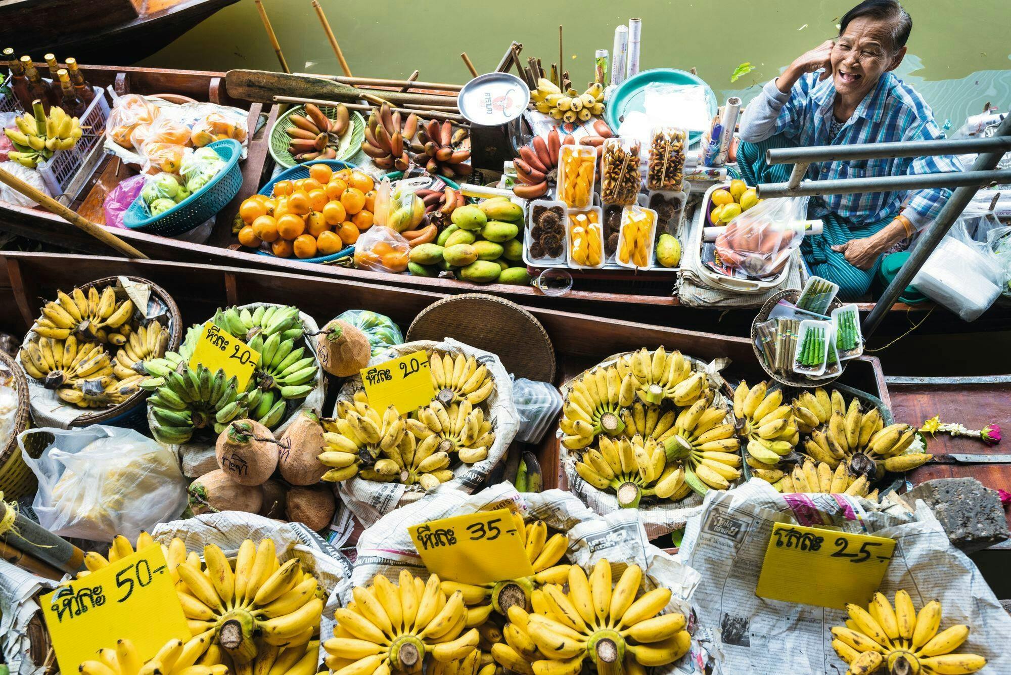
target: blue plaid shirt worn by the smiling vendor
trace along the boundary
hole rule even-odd
[[[766,84],[742,117],[741,139],[756,142],[783,133],[807,147],[944,137],[923,97],[892,73],[886,73],[830,141],[835,85],[832,78],[819,82],[819,75],[820,72],[802,76],[787,94],[776,88],[775,80]],[[961,170],[953,157],[884,158],[812,164],[806,178],[875,178]],[[812,207],[816,216],[834,212],[855,224],[877,222],[901,212],[917,229],[922,229],[937,217],[950,194],[947,189],[930,188],[916,192],[822,195],[812,199]]]

